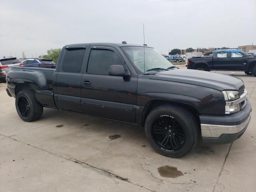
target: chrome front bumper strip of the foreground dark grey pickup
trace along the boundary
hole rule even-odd
[[[210,125],[210,124],[201,124],[202,137],[218,138],[222,134],[236,134],[244,130],[251,120],[250,116],[239,125]]]

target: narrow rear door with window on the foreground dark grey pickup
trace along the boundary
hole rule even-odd
[[[85,46],[69,46],[63,50],[54,80],[54,100],[60,109],[82,112],[81,78]]]

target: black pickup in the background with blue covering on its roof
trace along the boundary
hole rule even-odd
[[[187,68],[204,71],[244,71],[248,75],[256,76],[256,57],[242,50],[216,50],[212,53],[212,57],[189,58]]]

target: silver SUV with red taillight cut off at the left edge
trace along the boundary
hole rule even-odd
[[[16,57],[4,57],[0,58],[0,82],[5,82],[6,74],[10,71],[12,66],[22,66]]]

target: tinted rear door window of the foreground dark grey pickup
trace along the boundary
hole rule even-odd
[[[81,71],[85,48],[66,49],[63,61],[62,71],[78,73]]]

